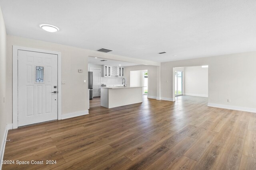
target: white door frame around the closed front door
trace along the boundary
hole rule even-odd
[[[12,46],[12,126],[18,128],[18,50],[57,55],[58,59],[58,120],[61,120],[61,53],[43,49]]]

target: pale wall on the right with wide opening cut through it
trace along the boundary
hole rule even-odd
[[[162,98],[174,98],[174,67],[208,65],[208,103],[256,112],[255,63],[255,51],[161,63]]]

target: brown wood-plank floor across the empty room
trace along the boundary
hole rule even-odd
[[[207,107],[207,98],[193,96],[112,109],[94,98],[89,113],[10,130],[4,160],[30,164],[2,168],[256,169],[256,113]]]

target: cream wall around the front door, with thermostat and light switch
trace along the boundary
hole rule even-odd
[[[62,55],[62,115],[68,113],[83,112],[88,110],[88,80],[87,56],[88,50],[55,43],[48,43],[34,39],[27,39],[16,36],[7,36],[7,93],[8,101],[7,122],[12,123],[12,45],[30,47],[36,49],[45,49],[50,51],[60,51]],[[78,73],[78,69],[84,71]]]

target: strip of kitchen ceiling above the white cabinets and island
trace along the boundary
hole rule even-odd
[[[106,61],[101,61],[101,60],[106,60]],[[102,58],[95,58],[95,57],[88,57],[88,63],[98,64],[98,65],[109,65],[109,66],[119,66],[120,64],[123,67],[140,65],[136,63],[128,63],[124,61],[116,61],[116,60],[109,60],[109,59],[102,59]]]

